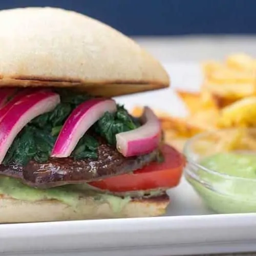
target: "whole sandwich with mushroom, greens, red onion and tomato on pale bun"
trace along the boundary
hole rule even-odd
[[[169,87],[159,61],[69,10],[2,10],[0,29],[0,223],[163,215],[183,156],[113,99]]]

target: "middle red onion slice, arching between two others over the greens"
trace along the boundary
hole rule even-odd
[[[105,112],[116,112],[112,99],[90,99],[81,103],[63,125],[52,151],[52,157],[68,157],[80,138]]]

